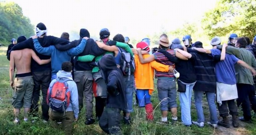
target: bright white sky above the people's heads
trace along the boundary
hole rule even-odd
[[[18,3],[34,26],[43,22],[48,35],[60,37],[81,28],[99,37],[102,28],[110,36],[120,33],[137,40],[174,30],[198,20],[216,0],[9,0]],[[74,38],[74,37],[73,37]],[[70,40],[72,35],[70,35]]]

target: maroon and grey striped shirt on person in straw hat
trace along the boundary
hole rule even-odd
[[[170,53],[171,55],[175,56],[174,50],[169,49],[169,50],[166,50],[166,51],[168,53]],[[165,64],[165,65],[172,65],[175,68],[175,64],[173,62],[169,61],[167,59],[167,57],[165,57],[162,53],[156,52],[156,53],[154,53],[154,56],[155,56],[155,60],[158,63]],[[168,78],[174,77],[173,72],[159,72],[157,70],[156,70],[156,76],[157,77],[168,77]]]

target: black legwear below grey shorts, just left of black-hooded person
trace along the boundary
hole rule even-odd
[[[106,98],[95,97],[95,103],[96,117],[101,117],[106,105]]]

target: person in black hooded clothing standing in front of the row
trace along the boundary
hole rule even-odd
[[[124,79],[114,56],[104,55],[99,61],[100,72],[107,84],[106,107],[99,120],[100,128],[107,134],[120,134],[121,110],[125,106]]]

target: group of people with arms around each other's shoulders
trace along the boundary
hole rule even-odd
[[[78,120],[84,97],[85,124],[95,123],[95,97],[99,126],[107,134],[121,134],[121,117],[125,124],[132,123],[134,92],[140,119],[154,120],[154,107],[150,100],[154,77],[157,78],[162,123],[170,123],[168,111],[173,122],[178,120],[177,91],[181,121],[186,127],[192,124],[204,127],[204,93],[211,116],[207,124],[215,128],[217,125],[230,127],[228,112],[232,115],[234,127],[239,126],[238,120],[252,122],[250,110],[256,112],[253,87],[256,37],[253,45],[249,46],[248,39],[238,38],[236,34],[231,34],[228,44],[223,45],[219,37],[214,37],[211,40],[213,49],[206,50],[200,41],[193,44],[190,35],[183,37],[183,46],[178,38],[169,42],[167,35],[162,34],[159,48],[151,50],[149,38],[144,38],[135,49],[129,44],[129,38],[121,34],[110,40],[110,32],[106,28],[100,30],[99,35],[100,41],[94,41],[87,29],[81,29],[80,39],[70,42],[68,33],[63,33],[61,38],[47,35],[46,26],[39,23],[36,35],[12,40],[7,59],[10,60],[10,85],[14,89],[15,123],[20,122],[22,107],[24,121],[28,121],[29,114],[38,116],[41,90],[43,121],[51,119],[62,123],[67,135],[72,134],[72,123]],[[190,114],[193,90],[196,121],[191,120]],[[222,121],[217,119],[215,99]],[[238,117],[239,105],[244,112],[242,117]]]

